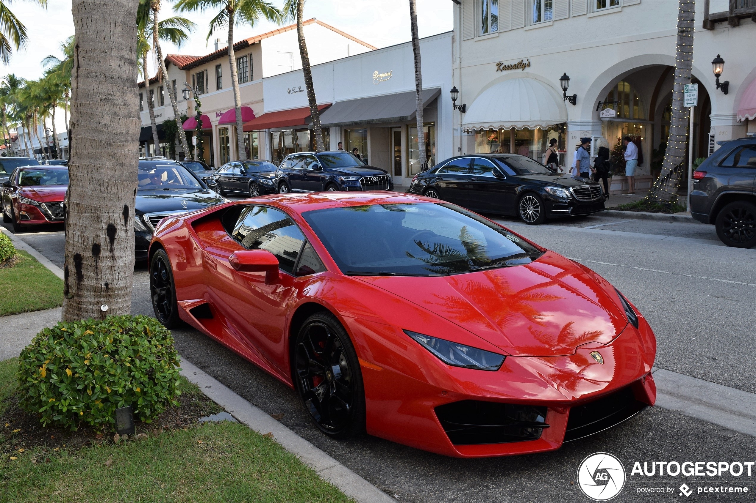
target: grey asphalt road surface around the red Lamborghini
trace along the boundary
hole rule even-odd
[[[754,306],[756,250],[724,247],[713,226],[694,222],[609,216],[531,227],[504,219],[514,232],[578,259],[615,284],[649,319],[658,339],[656,365],[689,376],[756,391]],[[671,238],[662,239],[665,236]],[[62,261],[63,233],[19,235],[54,263]],[[135,269],[132,312],[153,314],[146,268]],[[655,407],[609,431],[565,444],[556,452],[514,458],[460,460],[376,437],[335,441],[310,425],[294,391],[196,330],[174,330],[181,355],[283,424],[328,452],[398,501],[587,501],[575,482],[582,459],[610,452],[629,469],[634,462],[754,461],[756,437]],[[628,473],[629,475],[629,473]],[[748,501],[748,495],[679,495],[701,477],[628,477],[614,501]],[[674,493],[638,494],[671,480]],[[713,477],[733,480],[733,477]],[[742,485],[742,484],[741,484]]]

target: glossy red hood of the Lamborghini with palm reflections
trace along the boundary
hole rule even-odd
[[[587,342],[612,341],[627,325],[606,280],[551,251],[527,265],[462,275],[361,279],[518,356],[574,354]]]

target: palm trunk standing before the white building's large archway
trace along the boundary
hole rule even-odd
[[[695,0],[680,0],[677,11],[677,51],[675,53],[674,88],[672,91],[672,119],[669,143],[662,164],[662,173],[654,182],[649,199],[662,203],[677,201],[677,187],[686,155],[690,109],[683,106],[685,84],[690,84],[693,66],[693,21],[696,16]],[[692,141],[692,131],[690,131]]]

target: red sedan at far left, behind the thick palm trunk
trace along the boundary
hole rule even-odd
[[[2,221],[12,222],[13,232],[26,225],[65,221],[67,167],[19,167],[2,185]]]

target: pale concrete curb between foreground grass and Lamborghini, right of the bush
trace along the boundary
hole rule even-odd
[[[296,455],[305,465],[312,468],[319,477],[341,489],[345,495],[358,503],[388,503],[395,501],[373,484],[346,468],[336,459],[312,445],[280,422],[268,416],[252,403],[244,400],[221,382],[204,373],[194,364],[181,358],[181,375],[200,387],[212,401],[224,407],[231,416],[249,426],[259,434],[273,434],[274,440],[283,449]]]

